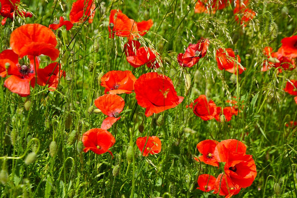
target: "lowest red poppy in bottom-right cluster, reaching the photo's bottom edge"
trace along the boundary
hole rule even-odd
[[[227,175],[221,173],[215,182],[214,193],[219,193],[219,195],[226,196],[225,198],[230,198],[238,194],[240,189],[241,187],[233,183]]]

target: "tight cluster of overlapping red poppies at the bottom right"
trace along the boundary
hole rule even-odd
[[[212,175],[198,176],[198,188],[202,191],[213,191],[214,194],[232,197],[239,193],[241,188],[252,185],[257,170],[252,155],[247,155],[247,147],[239,140],[228,139],[218,142],[216,140],[203,140],[197,144],[202,156],[194,158],[211,166],[219,167],[224,162],[224,173],[215,178]]]

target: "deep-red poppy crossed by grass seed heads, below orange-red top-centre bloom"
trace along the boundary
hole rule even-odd
[[[156,54],[159,55],[159,53],[149,47],[140,47],[139,41],[129,40],[124,48],[126,48],[127,61],[131,66],[137,68],[146,64],[151,69],[160,67],[156,60]]]

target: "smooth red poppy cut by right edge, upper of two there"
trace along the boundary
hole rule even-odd
[[[279,52],[281,52],[285,57],[296,58],[297,57],[297,35],[283,38],[281,42],[282,42],[282,47],[279,48]]]

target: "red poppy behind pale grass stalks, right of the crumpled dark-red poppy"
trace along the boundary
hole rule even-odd
[[[222,48],[219,48],[217,50],[216,60],[218,63],[218,68],[220,70],[225,69],[227,72],[236,74],[238,64],[235,62],[236,60],[235,53],[231,48],[226,48],[225,50],[227,51],[228,55]],[[240,63],[241,61],[240,57],[238,55],[236,55],[236,57],[238,59],[238,63]],[[239,74],[241,74],[245,70],[246,70],[245,67],[242,67],[242,66],[238,67]]]

